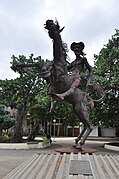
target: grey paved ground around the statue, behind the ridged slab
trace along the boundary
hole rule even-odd
[[[106,142],[114,141],[114,138],[90,138],[87,140],[85,147],[97,149],[96,155],[98,154],[116,154],[119,152],[104,149]],[[0,179],[6,176],[14,168],[19,166],[21,163],[28,160],[34,154],[42,153],[56,153],[55,149],[59,147],[71,147],[74,142],[74,138],[56,138],[55,142],[53,139],[52,146],[44,149],[31,149],[31,150],[0,150]]]

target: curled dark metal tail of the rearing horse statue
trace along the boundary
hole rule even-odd
[[[96,90],[99,94],[101,94],[101,98],[99,98],[99,99],[97,99],[97,100],[93,99],[93,102],[94,102],[94,103],[101,103],[102,101],[105,100],[106,94],[105,94],[103,88],[102,88],[99,84],[91,83],[91,84],[89,85],[89,88],[90,88],[90,87],[91,87],[92,89]]]

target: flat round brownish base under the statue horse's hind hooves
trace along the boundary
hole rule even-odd
[[[61,148],[57,148],[55,149],[56,152],[60,152],[60,154],[70,154],[70,153],[74,153],[74,154],[78,154],[78,153],[81,153],[81,154],[92,154],[94,152],[97,152],[96,149],[93,149],[93,148],[87,148],[87,147],[82,147],[81,149],[76,149],[74,147],[61,147]]]

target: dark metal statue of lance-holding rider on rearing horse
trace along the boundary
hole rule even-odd
[[[57,21],[47,20],[45,29],[48,30],[49,37],[53,41],[53,61],[42,66],[40,73],[42,78],[49,83],[48,93],[51,96],[50,112],[53,111],[54,104],[56,104],[58,99],[62,99],[72,104],[73,111],[84,125],[83,130],[77,136],[73,145],[75,148],[81,150],[82,145],[85,144],[87,137],[93,130],[89,120],[89,113],[94,107],[94,102],[101,102],[104,100],[105,93],[99,85],[91,82],[92,67],[85,58],[83,52],[84,43],[73,42],[71,44],[71,50],[74,51],[76,59],[71,64],[68,64],[60,35],[64,27],[60,29]],[[35,64],[26,64],[24,67],[31,67],[32,65],[35,66]],[[23,67],[23,64],[16,66]],[[81,91],[79,88],[80,73],[84,66],[86,66],[89,71],[87,86],[94,88],[101,94],[99,100],[93,100],[86,92]],[[70,74],[69,70],[71,71]]]

